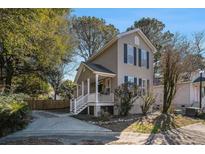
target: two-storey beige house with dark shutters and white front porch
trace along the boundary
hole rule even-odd
[[[115,89],[125,82],[138,84],[145,91],[153,87],[153,53],[156,51],[140,29],[114,37],[77,70],[76,98],[70,109],[74,114],[87,112],[99,116],[101,111],[118,114]],[[131,113],[140,112],[134,105]]]

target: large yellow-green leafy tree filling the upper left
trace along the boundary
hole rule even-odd
[[[0,9],[0,60],[9,90],[14,76],[41,72],[71,53],[70,9]]]

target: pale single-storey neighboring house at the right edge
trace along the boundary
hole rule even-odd
[[[205,107],[205,73],[202,75],[202,107]],[[153,92],[156,95],[156,104],[163,104],[163,85],[153,87]],[[177,92],[173,100],[174,108],[199,107],[200,96],[200,75],[199,72],[193,72],[191,80],[181,82],[177,85]]]

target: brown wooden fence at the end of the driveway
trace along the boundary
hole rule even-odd
[[[69,100],[28,100],[32,110],[51,110],[69,108]]]

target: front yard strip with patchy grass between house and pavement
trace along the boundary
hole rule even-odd
[[[75,118],[111,129],[114,132],[159,133],[183,126],[205,123],[204,120],[182,115],[164,115],[160,113],[143,115],[129,115],[127,117],[112,117],[107,121],[88,115],[77,115]]]

